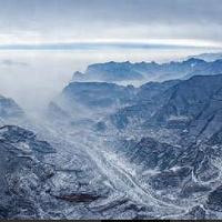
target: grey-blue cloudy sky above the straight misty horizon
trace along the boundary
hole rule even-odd
[[[0,0],[0,48],[221,48],[221,0]]]

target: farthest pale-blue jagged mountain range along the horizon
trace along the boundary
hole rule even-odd
[[[75,72],[72,81],[80,82],[138,82],[189,79],[193,75],[213,75],[222,73],[222,60],[212,62],[190,58],[182,62],[108,62],[89,65],[84,73]]]

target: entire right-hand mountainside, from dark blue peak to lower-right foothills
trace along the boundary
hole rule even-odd
[[[221,85],[222,75],[193,77],[111,118],[125,139],[109,149],[133,164],[137,180],[159,200],[189,202],[174,219],[220,216]]]

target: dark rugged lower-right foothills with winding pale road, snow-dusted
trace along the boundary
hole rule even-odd
[[[114,144],[111,142],[108,149],[115,153],[117,164],[125,165],[125,171],[145,191],[160,201],[186,209],[185,213],[176,215],[179,211],[175,211],[164,219],[213,219],[220,218],[216,212],[222,209],[222,143],[212,144],[209,140],[206,143],[175,147],[153,138],[142,138],[121,139]]]

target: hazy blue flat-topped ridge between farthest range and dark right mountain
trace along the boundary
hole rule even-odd
[[[69,119],[93,119],[103,120],[105,115],[114,113],[117,110],[134,104],[147,105],[151,98],[161,94],[180,80],[167,81],[163,83],[149,82],[139,88],[128,85],[122,87],[105,82],[72,82],[64,88],[62,93],[49,104],[49,115],[51,119],[65,121]],[[137,105],[135,105],[137,108]],[[138,109],[138,108],[137,108]],[[141,111],[143,109],[140,109]],[[92,123],[91,120],[84,124]],[[75,122],[73,125],[80,125]],[[98,127],[103,123],[99,122]],[[104,128],[104,125],[103,125]]]

